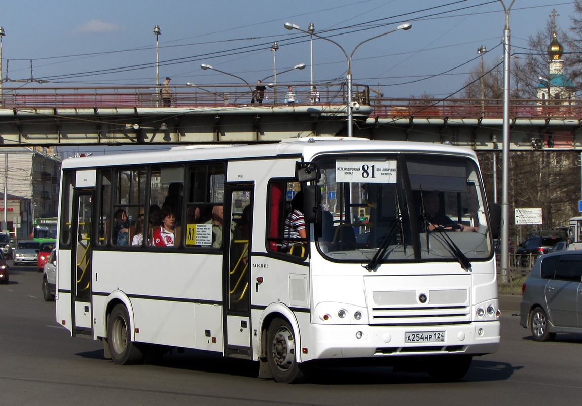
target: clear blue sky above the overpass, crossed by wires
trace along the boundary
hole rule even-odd
[[[511,0],[503,2],[509,6]],[[528,37],[545,29],[552,9],[559,14],[556,25],[567,30],[572,1],[514,1],[512,52],[527,52]],[[307,86],[310,39],[286,30],[286,22],[303,30],[313,23],[316,34],[335,41],[347,55],[368,38],[412,24],[362,44],[353,54],[353,82],[379,87],[384,97],[455,94],[471,68],[480,66],[477,48],[487,48],[485,65],[499,63],[503,54],[500,0],[3,0],[2,77],[47,81],[3,86],[155,84],[155,25],[161,30],[160,82],[169,76],[172,85],[237,83],[200,69],[207,63],[253,83],[273,74],[276,41],[278,72],[307,65],[278,75],[278,84]],[[315,83],[345,78],[347,58],[340,47],[314,37],[313,54]]]

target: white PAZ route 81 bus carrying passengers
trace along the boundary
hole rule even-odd
[[[459,379],[499,347],[499,210],[469,149],[313,137],[62,171],[56,319],[117,364],[177,347],[283,383],[313,365]]]

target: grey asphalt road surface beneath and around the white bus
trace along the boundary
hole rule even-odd
[[[11,263],[11,262],[10,262]],[[253,362],[186,350],[160,365],[118,366],[100,341],[71,338],[44,302],[42,274],[12,267],[0,285],[1,405],[501,405],[580,404],[582,336],[531,340],[502,315],[498,353],[475,358],[461,382],[391,368],[317,369],[308,383],[258,379]]]

